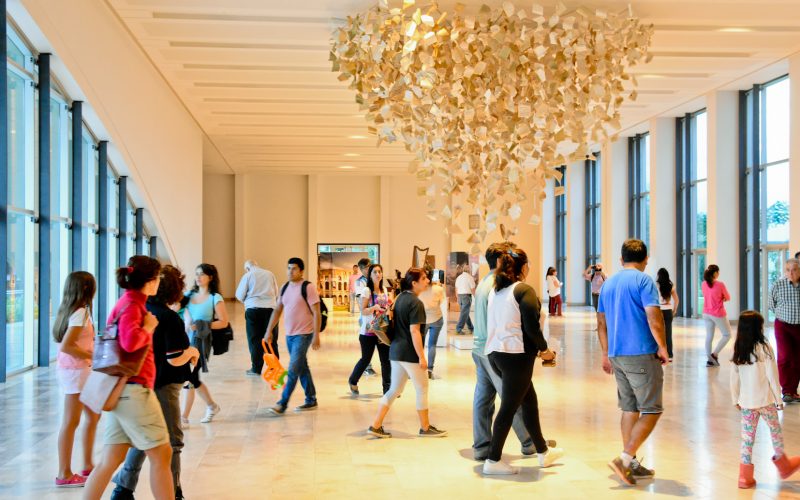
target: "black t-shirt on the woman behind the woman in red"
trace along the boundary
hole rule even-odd
[[[186,335],[183,320],[178,313],[156,302],[148,301],[147,310],[158,319],[158,326],[153,332],[153,354],[156,361],[155,387],[186,382],[191,374],[189,363],[172,366],[167,361],[168,358],[180,356],[189,348],[189,336]]]

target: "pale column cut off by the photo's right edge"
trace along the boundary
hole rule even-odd
[[[789,58],[789,183],[800,193],[800,53]],[[800,252],[800,201],[789,205],[789,253]]]

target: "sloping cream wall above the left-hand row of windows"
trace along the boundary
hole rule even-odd
[[[169,260],[189,269],[202,257],[203,159],[199,127],[106,2],[18,0],[9,12],[53,70],[109,159],[133,181]]]

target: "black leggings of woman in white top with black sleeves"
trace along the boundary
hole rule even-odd
[[[489,354],[489,363],[492,369],[503,380],[500,410],[494,419],[492,441],[489,444],[490,460],[495,462],[500,460],[503,454],[503,445],[506,443],[509,430],[511,430],[514,414],[520,407],[522,407],[522,422],[533,439],[536,452],[547,451],[547,442],[542,437],[542,427],[539,424],[539,401],[531,381],[534,361],[536,361],[536,357],[530,354],[505,352]]]

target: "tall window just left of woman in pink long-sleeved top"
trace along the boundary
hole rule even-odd
[[[676,176],[678,269],[675,282],[684,316],[703,310],[708,220],[708,126],[705,110],[677,120]]]

